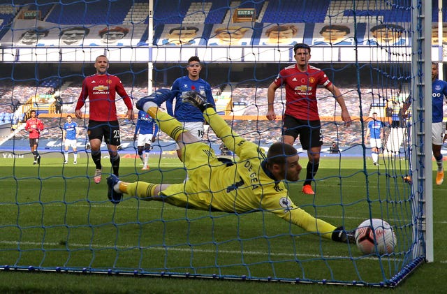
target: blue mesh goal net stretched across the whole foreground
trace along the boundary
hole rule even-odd
[[[432,15],[431,4],[0,4],[0,183],[6,190],[0,199],[0,268],[396,286],[433,259],[432,151],[423,144],[431,140],[431,124],[425,120],[431,105],[423,97],[431,95],[430,59],[442,62],[446,55],[437,40],[442,20],[419,15]],[[278,118],[269,121],[268,87],[282,68],[295,64],[296,43],[311,47],[310,64],[340,89],[352,124],[342,121],[332,93],[318,87],[323,146],[312,179],[315,195],[301,191],[308,156],[298,138],[303,169],[298,182],[286,183],[288,197],[312,216],[346,230],[366,219],[383,219],[396,235],[393,252],[365,255],[352,242],[326,240],[263,210],[199,211],[129,196],[113,205],[107,198],[105,177],[112,167],[104,142],[103,181],[94,184],[95,165],[85,147],[89,101],[82,119],[75,117],[75,105],[82,80],[95,73],[98,55],[108,57],[109,73],[122,80],[134,104],[154,89],[170,88],[188,74],[188,59],[198,56],[200,78],[210,83],[219,115],[235,133],[268,149],[281,140],[281,116],[288,107],[286,89],[280,87],[274,99]],[[439,71],[442,75],[442,66]],[[31,110],[45,126],[36,165],[24,129]],[[186,170],[166,133],[156,135],[147,151],[150,170],[141,169],[135,121],[125,113],[117,97],[121,179],[182,183]],[[367,136],[374,113],[383,122],[378,150]],[[80,131],[75,152],[66,151],[62,142],[67,115]],[[216,154],[237,161],[212,128],[205,126],[203,140]]]

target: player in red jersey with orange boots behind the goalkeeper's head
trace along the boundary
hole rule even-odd
[[[335,87],[321,69],[309,65],[310,47],[307,44],[295,44],[293,53],[296,64],[287,66],[279,71],[277,78],[268,87],[267,118],[274,120],[274,92],[284,85],[286,88],[286,111],[283,117],[283,137],[286,144],[293,145],[298,135],[302,149],[307,150],[309,162],[302,192],[314,195],[311,183],[318,170],[320,162],[321,122],[316,102],[316,88],[322,85],[335,97],[335,101],[342,108],[342,119],[346,126],[351,125],[351,116],[344,103],[342,92]]]

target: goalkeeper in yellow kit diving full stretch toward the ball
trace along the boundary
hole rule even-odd
[[[351,233],[346,233],[342,226],[337,228],[316,219],[289,198],[283,180],[298,181],[301,171],[299,156],[293,146],[276,142],[266,155],[258,145],[233,132],[205,97],[196,91],[184,92],[182,103],[198,107],[216,135],[239,157],[237,162],[219,161],[209,145],[199,141],[180,122],[158,108],[167,95],[172,93],[168,89],[160,89],[141,98],[136,106],[153,117],[159,128],[182,148],[188,179],[181,184],[126,183],[116,175],[110,175],[107,179],[108,198],[112,203],[119,203],[126,193],[142,200],[163,201],[196,210],[230,213],[268,211],[326,239],[338,242],[349,239],[353,242]]]

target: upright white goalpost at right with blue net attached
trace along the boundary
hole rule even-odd
[[[413,127],[411,128],[411,170],[414,193],[416,251],[425,251],[433,261],[433,173],[432,173],[432,3],[412,0],[413,7]],[[417,177],[416,177],[417,176]],[[415,257],[419,256],[414,252]]]

